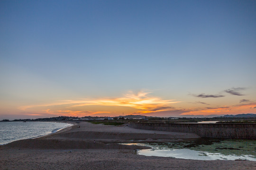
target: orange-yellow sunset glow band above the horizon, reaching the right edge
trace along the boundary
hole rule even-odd
[[[143,114],[150,116],[182,116],[182,115],[223,115],[255,113],[256,103],[243,105],[225,105],[222,107],[194,107],[177,104],[180,101],[165,100],[152,96],[148,92],[128,92],[123,97],[105,99],[63,100],[59,102],[20,106],[19,110],[29,111],[35,116],[65,115],[65,116],[119,116],[127,114]],[[28,115],[33,115],[28,114]]]

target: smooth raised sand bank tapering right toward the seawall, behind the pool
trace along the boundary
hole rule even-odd
[[[108,126],[102,124],[91,124],[82,122],[73,126],[68,131],[59,131],[58,133],[46,136],[47,139],[73,139],[73,140],[96,140],[103,143],[131,142],[132,140],[181,140],[196,139],[200,136],[190,133],[165,132],[155,130],[143,130],[122,126]]]

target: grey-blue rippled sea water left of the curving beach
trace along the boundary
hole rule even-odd
[[[59,122],[0,122],[0,144],[45,136],[70,126]]]

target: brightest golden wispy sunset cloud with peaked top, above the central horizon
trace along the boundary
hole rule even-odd
[[[156,112],[156,111],[165,111],[172,110],[173,107],[171,104],[177,103],[179,101],[175,100],[165,100],[160,97],[151,95],[150,92],[139,91],[139,92],[128,92],[123,95],[123,97],[116,98],[103,98],[103,99],[81,99],[81,100],[65,100],[47,104],[40,105],[27,105],[21,106],[20,110],[28,110],[35,108],[44,108],[45,113],[53,113],[54,108],[61,108],[59,110],[55,109],[55,112],[58,113],[68,113],[72,115],[80,114],[97,114],[99,112],[88,112],[84,111],[86,106],[121,106],[129,107],[138,110],[143,110],[144,112]],[[51,108],[51,110],[49,110]],[[107,113],[107,111],[104,111]]]

